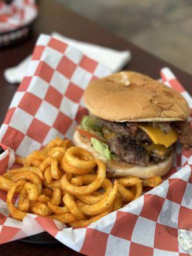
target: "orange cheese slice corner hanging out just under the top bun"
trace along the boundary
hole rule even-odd
[[[164,133],[160,128],[153,128],[150,125],[138,125],[138,127],[146,132],[155,144],[164,145],[166,148],[177,141],[177,132],[173,129],[168,133]]]

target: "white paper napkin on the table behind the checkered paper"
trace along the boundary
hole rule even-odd
[[[83,52],[83,54],[86,54],[86,56],[108,67],[111,72],[121,70],[122,67],[124,67],[129,60],[131,60],[130,51],[116,51],[114,49],[109,49],[99,45],[80,42],[72,38],[67,38],[66,36],[60,35],[56,32],[52,33],[51,36],[76,47]],[[5,79],[9,83],[20,83],[24,77],[24,74],[26,73],[30,59],[31,56],[28,56],[16,67],[7,68],[4,71]]]

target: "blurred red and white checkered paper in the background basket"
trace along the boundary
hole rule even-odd
[[[13,0],[11,4],[0,1],[0,33],[25,26],[36,15],[35,0]]]

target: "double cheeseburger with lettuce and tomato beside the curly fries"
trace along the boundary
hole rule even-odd
[[[93,81],[84,92],[90,115],[74,143],[106,162],[115,176],[163,176],[173,165],[173,147],[192,146],[189,106],[179,92],[148,76],[120,72]]]

